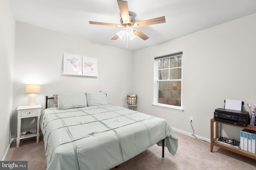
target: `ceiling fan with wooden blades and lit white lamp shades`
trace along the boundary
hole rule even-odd
[[[138,29],[133,29],[132,27],[144,27],[147,25],[165,23],[165,16],[162,16],[159,18],[153,18],[150,20],[136,22],[134,17],[129,14],[127,1],[117,0],[117,3],[118,3],[118,7],[120,10],[120,14],[121,14],[121,19],[120,19],[121,25],[114,24],[114,23],[103,23],[103,22],[89,21],[90,24],[108,25],[108,26],[114,26],[114,27],[124,27],[124,29],[122,29],[121,31],[116,33],[116,35],[112,38],[112,40],[116,40],[116,39],[118,39],[118,37],[120,39],[122,39],[122,37],[125,34],[127,35],[127,39],[128,39],[128,36],[130,37],[130,40],[133,40],[134,38],[136,38],[136,36],[140,37],[143,40],[146,40],[149,38],[147,35],[140,32]]]

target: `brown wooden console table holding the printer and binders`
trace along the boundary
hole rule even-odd
[[[214,138],[214,122],[215,122],[215,138]],[[247,127],[244,127],[244,126],[233,125],[233,124],[225,123],[225,122],[221,122],[221,121],[216,121],[216,120],[214,120],[214,118],[212,118],[211,119],[211,150],[210,150],[211,152],[213,150],[213,146],[217,146],[217,147],[220,147],[220,148],[223,148],[223,149],[226,149],[226,150],[230,150],[232,152],[235,152],[235,153],[238,153],[238,154],[241,154],[241,155],[244,155],[244,156],[247,156],[249,158],[252,158],[252,159],[256,160],[256,154],[254,154],[254,153],[248,152],[246,150],[238,150],[238,149],[235,149],[235,148],[230,147],[228,145],[218,143],[218,141],[217,141],[218,135],[219,135],[218,123],[225,124],[225,125],[230,125],[230,126],[235,126],[235,127],[241,127],[243,129],[249,129],[249,130],[256,131],[256,127],[251,126],[251,125],[248,125]],[[238,132],[238,133],[240,133],[240,132]]]

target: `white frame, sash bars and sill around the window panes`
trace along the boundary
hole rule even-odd
[[[170,57],[174,57],[174,56],[178,56],[178,55],[182,55],[182,64],[181,64],[181,79],[176,79],[176,80],[167,80],[167,81],[181,81],[181,106],[173,106],[173,105],[168,105],[168,104],[160,104],[157,102],[157,97],[158,97],[158,82],[159,81],[163,81],[163,80],[158,80],[158,60],[159,59],[164,59],[164,58],[170,58]],[[152,104],[152,106],[154,107],[160,107],[160,108],[164,108],[164,109],[171,109],[174,111],[184,111],[183,107],[182,107],[182,75],[183,75],[183,53],[178,52],[178,53],[172,53],[172,54],[168,54],[168,55],[163,55],[163,56],[159,56],[159,57],[155,57],[154,58],[154,103]],[[166,81],[166,80],[164,80]]]

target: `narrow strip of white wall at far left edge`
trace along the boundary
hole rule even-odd
[[[9,0],[0,1],[0,160],[10,142],[10,115],[12,113],[15,18]]]

